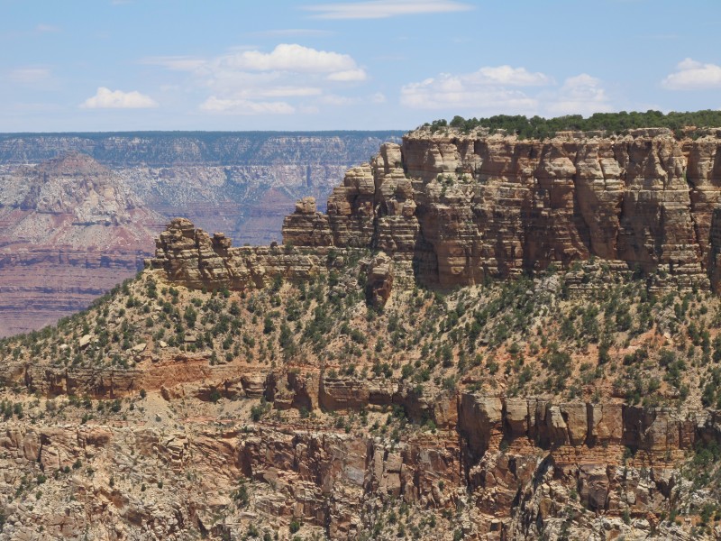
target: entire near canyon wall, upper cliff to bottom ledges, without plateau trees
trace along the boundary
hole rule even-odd
[[[172,219],[0,342],[0,539],[721,538],[720,143],[420,128],[279,243]]]

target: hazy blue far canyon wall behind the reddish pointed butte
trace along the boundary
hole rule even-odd
[[[164,221],[185,216],[236,243],[278,240],[297,197],[324,200],[343,172],[401,132],[2,134],[0,170],[82,152]]]

